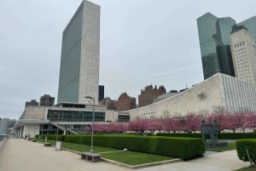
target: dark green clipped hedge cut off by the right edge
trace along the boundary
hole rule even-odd
[[[252,162],[256,164],[256,139],[236,141],[236,151],[239,159],[244,162],[249,162],[246,149]]]

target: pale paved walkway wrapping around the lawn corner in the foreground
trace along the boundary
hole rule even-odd
[[[176,162],[137,171],[230,171],[248,166],[236,151],[226,151],[187,162]],[[9,139],[0,149],[1,171],[119,171],[129,170],[105,162],[86,162],[70,151],[55,151],[54,147],[28,140]]]

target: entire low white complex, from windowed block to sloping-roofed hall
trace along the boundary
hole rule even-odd
[[[95,105],[95,122],[127,123],[137,118],[183,117],[189,112],[204,116],[219,109],[256,112],[256,83],[218,73],[181,93],[134,110],[108,111],[106,105]],[[84,104],[28,106],[15,124],[15,134],[86,134],[92,113],[93,105]]]

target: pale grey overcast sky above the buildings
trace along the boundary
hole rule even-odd
[[[81,0],[0,1],[0,117],[18,119],[25,102],[57,98],[61,36]],[[196,19],[211,12],[240,22],[255,0],[91,0],[101,6],[100,84],[105,96],[136,97],[203,81]]]

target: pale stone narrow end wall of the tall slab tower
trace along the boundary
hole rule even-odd
[[[83,2],[79,103],[91,96],[98,104],[100,68],[100,6]]]

